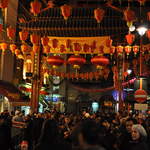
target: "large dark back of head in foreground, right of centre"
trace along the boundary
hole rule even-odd
[[[99,140],[99,126],[94,120],[84,120],[79,126],[78,140],[81,148],[87,145],[97,145]]]

